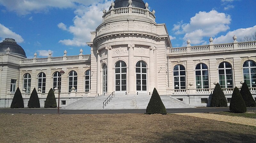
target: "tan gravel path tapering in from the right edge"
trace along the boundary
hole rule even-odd
[[[206,119],[212,119],[212,120],[230,122],[230,123],[236,123],[236,124],[256,126],[256,119],[252,119],[252,118],[234,117],[234,116],[209,114],[209,113],[176,113],[176,114],[193,116],[198,118],[206,118]]]

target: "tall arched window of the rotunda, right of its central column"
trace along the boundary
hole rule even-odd
[[[136,90],[147,91],[147,65],[144,61],[136,63]]]

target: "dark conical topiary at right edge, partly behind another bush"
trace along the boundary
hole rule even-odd
[[[256,107],[256,102],[253,100],[252,94],[245,82],[242,85],[240,93],[244,99],[246,107]]]

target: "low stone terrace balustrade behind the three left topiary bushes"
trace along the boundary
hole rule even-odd
[[[48,93],[37,93],[38,98],[46,98]],[[30,98],[31,94],[21,94],[22,98]],[[55,98],[58,98],[58,92],[54,92]],[[70,93],[70,92],[65,92],[65,93],[60,93],[60,98],[65,98],[65,97],[89,97],[90,92],[75,92],[75,93]],[[13,98],[14,94],[7,94],[7,98]]]

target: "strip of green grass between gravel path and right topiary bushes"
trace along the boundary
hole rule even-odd
[[[211,112],[212,114],[220,114],[220,115],[227,115],[227,116],[238,116],[238,117],[245,117],[245,118],[256,118],[256,111],[247,111],[245,113],[232,113],[228,111],[221,111],[221,112]]]

